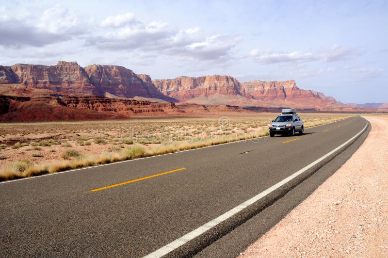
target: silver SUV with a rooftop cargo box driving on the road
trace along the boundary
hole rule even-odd
[[[299,134],[304,132],[303,121],[296,114],[295,109],[283,109],[282,114],[272,120],[272,124],[268,125],[268,129],[271,137],[274,137],[275,134],[295,135],[295,132],[299,132]]]

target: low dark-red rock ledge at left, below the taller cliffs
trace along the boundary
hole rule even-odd
[[[44,112],[42,112],[44,111]],[[0,121],[128,119],[132,115],[184,113],[175,103],[108,97],[11,97],[0,95]]]

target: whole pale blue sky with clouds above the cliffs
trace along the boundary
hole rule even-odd
[[[388,102],[387,0],[0,1],[0,65],[295,80],[344,103]]]

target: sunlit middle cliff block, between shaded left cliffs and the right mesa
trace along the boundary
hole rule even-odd
[[[239,81],[231,76],[178,77],[173,80],[154,80],[156,88],[164,95],[185,102],[195,97],[210,95],[245,95]]]

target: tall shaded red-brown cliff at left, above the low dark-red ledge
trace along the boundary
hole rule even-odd
[[[89,65],[82,68],[76,62],[57,65],[15,64],[0,66],[0,83],[21,84],[27,89],[47,89],[71,96],[135,96],[175,99],[164,96],[147,75],[117,65]]]

